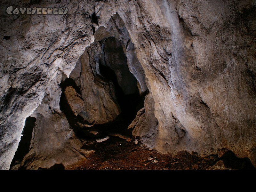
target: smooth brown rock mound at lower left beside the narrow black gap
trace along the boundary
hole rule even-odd
[[[21,161],[26,169],[50,168],[55,164],[64,167],[86,160],[91,151],[83,150],[83,143],[75,136],[63,113],[48,109],[49,98],[45,94],[40,106],[31,115],[36,123],[30,150]]]

